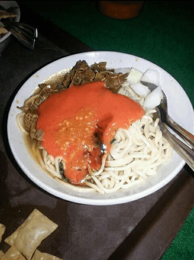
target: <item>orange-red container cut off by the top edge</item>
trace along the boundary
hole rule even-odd
[[[145,1],[99,1],[102,14],[115,19],[131,19],[137,17]]]

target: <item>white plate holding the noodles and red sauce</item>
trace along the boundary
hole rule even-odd
[[[171,117],[187,129],[187,131],[191,133],[194,132],[192,105],[179,83],[162,68],[147,60],[117,52],[87,52],[75,54],[59,59],[40,69],[23,84],[13,100],[8,117],[8,139],[13,155],[22,170],[35,184],[45,191],[62,199],[82,204],[111,205],[125,203],[147,196],[165,186],[178,174],[185,164],[176,152],[173,152],[173,157],[170,162],[159,167],[157,176],[149,177],[146,182],[130,189],[105,195],[98,193],[79,193],[72,189],[64,188],[52,177],[45,174],[41,167],[36,164],[16,124],[16,115],[20,112],[17,106],[22,106],[24,100],[32,94],[37,85],[46,77],[74,66],[78,60],[86,60],[89,65],[94,62],[107,61],[107,67],[134,67],[142,72],[145,72],[148,68],[158,70],[160,72],[161,87],[168,99]]]

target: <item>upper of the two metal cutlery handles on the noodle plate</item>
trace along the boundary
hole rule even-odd
[[[170,116],[167,116],[166,123],[177,133],[188,145],[194,149],[194,136],[177,124]]]

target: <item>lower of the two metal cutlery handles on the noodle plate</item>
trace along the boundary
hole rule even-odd
[[[165,123],[160,124],[163,136],[168,140],[173,149],[183,158],[188,166],[194,171],[194,150],[181,142],[173,134],[168,131]]]

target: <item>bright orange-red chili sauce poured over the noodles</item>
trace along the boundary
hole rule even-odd
[[[65,177],[80,185],[92,170],[101,167],[98,140],[110,151],[118,128],[128,128],[144,115],[133,100],[114,94],[103,81],[70,86],[53,94],[38,109],[37,129],[42,129],[42,146],[54,157],[63,156]]]

